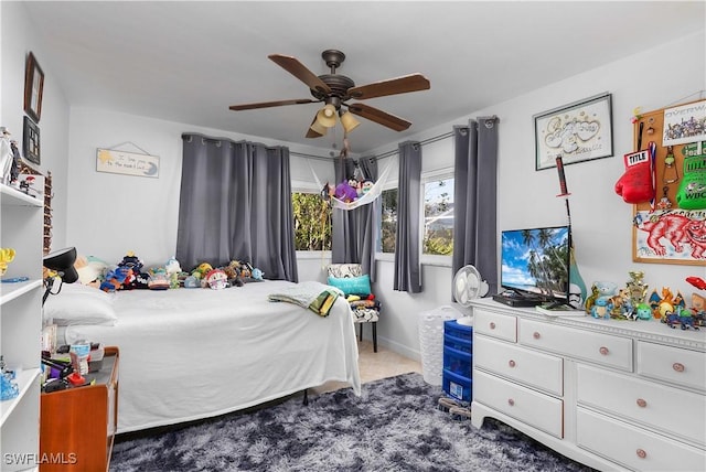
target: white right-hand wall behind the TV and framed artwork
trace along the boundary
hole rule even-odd
[[[496,115],[499,124],[498,229],[565,224],[566,208],[555,169],[535,171],[533,115],[602,92],[612,94],[612,158],[566,165],[570,196],[573,235],[580,273],[587,285],[611,280],[622,286],[630,270],[642,270],[651,288],[671,287],[691,297],[696,291],[684,279],[706,277],[702,266],[635,264],[632,261],[632,205],[613,191],[623,174],[624,153],[632,151],[633,109],[644,111],[706,98],[706,51],[704,32],[641,54],[587,71],[569,79],[547,85],[521,97],[477,110],[453,122],[426,130],[411,139],[424,141],[443,135],[452,125],[469,118]],[[479,72],[480,73],[480,72]],[[518,74],[521,79],[522,74]],[[686,97],[689,97],[685,100]],[[387,152],[394,146],[381,148]],[[452,162],[451,139],[422,147],[422,160],[443,165]],[[425,169],[426,170],[426,169]],[[381,344],[418,356],[416,314],[449,304],[452,275],[449,268],[425,266],[424,292],[408,294],[389,290],[394,267],[378,261],[376,293],[384,302],[378,323]],[[703,294],[703,292],[700,292]]]

